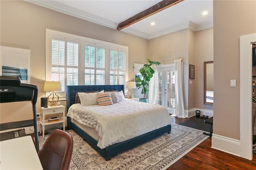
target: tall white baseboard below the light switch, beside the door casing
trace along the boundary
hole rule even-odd
[[[216,150],[226,152],[232,155],[240,156],[240,140],[212,134],[212,147]]]

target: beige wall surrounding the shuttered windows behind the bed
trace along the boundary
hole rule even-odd
[[[134,79],[133,63],[145,63],[145,58],[148,57],[148,40],[144,38],[87,22],[29,2],[1,0],[0,17],[1,45],[31,50],[30,83],[39,88],[37,113],[40,111],[40,97],[45,97],[42,89],[45,81],[46,28],[128,46],[129,80]],[[61,104],[66,105],[66,101],[62,101]],[[12,110],[9,109],[9,106],[12,107]],[[2,103],[0,109],[1,123],[32,118],[30,102]]]

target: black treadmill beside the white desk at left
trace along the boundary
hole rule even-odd
[[[39,151],[36,101],[38,87],[21,83],[19,77],[0,76],[0,103],[31,101],[34,119],[0,124],[0,130],[34,126],[36,152]],[[16,134],[17,135],[17,134]],[[16,137],[16,136],[15,136]]]

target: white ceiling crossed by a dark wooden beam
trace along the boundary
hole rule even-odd
[[[150,8],[161,0],[25,1],[116,29],[120,22]],[[212,3],[212,0],[184,0],[121,31],[151,39],[184,28],[194,31],[210,28],[213,26]],[[204,11],[208,11],[207,16],[202,15]],[[151,26],[151,22],[155,22],[155,25]]]

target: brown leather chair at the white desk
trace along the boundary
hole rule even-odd
[[[38,152],[44,170],[68,170],[72,152],[73,137],[68,132],[56,129]]]

